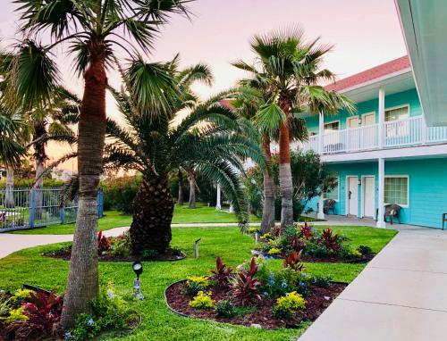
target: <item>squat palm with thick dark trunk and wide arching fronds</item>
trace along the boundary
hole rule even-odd
[[[153,115],[136,109],[138,100],[127,90],[127,84],[120,92],[112,90],[127,126],[108,122],[113,143],[105,148],[105,168],[138,170],[143,177],[130,230],[133,254],[164,253],[169,246],[174,204],[168,174],[173,170],[188,170],[219,183],[240,221],[247,221],[242,161],[250,157],[266,162],[257,144],[241,133],[238,115],[214,97],[194,105],[181,122],[176,123],[177,112],[171,110],[158,112],[159,119],[153,120]]]

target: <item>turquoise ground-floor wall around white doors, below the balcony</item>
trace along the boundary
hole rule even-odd
[[[340,177],[339,201],[335,204],[336,214],[346,214],[346,177],[375,176],[375,210],[378,199],[377,162],[341,163],[331,165],[333,174]],[[401,210],[401,222],[440,229],[441,218],[447,212],[447,159],[432,158],[385,162],[385,176],[409,176],[409,205]],[[362,195],[358,186],[358,215],[361,214]],[[309,206],[316,211],[317,200]],[[375,211],[374,210],[374,211]]]

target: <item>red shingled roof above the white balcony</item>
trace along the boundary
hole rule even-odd
[[[384,64],[375,66],[374,68],[369,69],[367,71],[362,71],[345,79],[340,79],[333,84],[325,86],[325,89],[333,91],[342,91],[344,89],[350,87],[356,87],[360,84],[366,83],[374,79],[379,79],[394,72],[408,69],[409,67],[410,67],[409,56],[404,55],[403,57],[394,59],[391,62],[385,62]]]

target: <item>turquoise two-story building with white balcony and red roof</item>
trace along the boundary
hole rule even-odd
[[[427,127],[407,56],[327,86],[354,100],[356,114],[306,117],[302,147],[321,154],[338,186],[324,195],[335,213],[384,227],[385,204],[401,222],[440,228],[447,212],[447,127]],[[311,203],[316,211],[323,198]],[[317,203],[319,202],[319,205]]]

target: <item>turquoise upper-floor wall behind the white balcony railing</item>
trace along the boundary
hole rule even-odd
[[[419,98],[417,96],[416,88],[403,91],[397,94],[385,96],[385,109],[392,108],[395,106],[409,104],[409,115],[410,117],[419,116],[422,114],[421,105],[419,103]],[[367,101],[360,102],[357,104],[357,114],[362,116],[364,113],[375,112],[375,121],[378,122],[378,91],[377,98]],[[347,128],[347,119],[352,117],[348,112],[342,110],[336,115],[325,115],[325,123],[331,121],[340,121],[340,129]],[[314,115],[306,119],[309,133],[318,134],[318,116]]]

